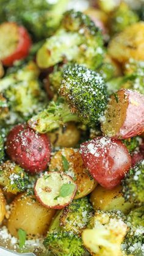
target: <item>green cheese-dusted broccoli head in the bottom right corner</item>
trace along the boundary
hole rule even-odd
[[[142,225],[134,227],[131,225],[129,232],[124,238],[122,249],[126,255],[143,255],[144,254],[144,228]]]

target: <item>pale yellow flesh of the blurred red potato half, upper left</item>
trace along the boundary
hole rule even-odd
[[[13,54],[18,46],[18,26],[15,23],[2,23],[0,26],[1,60]]]

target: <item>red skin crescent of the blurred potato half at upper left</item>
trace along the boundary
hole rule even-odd
[[[29,54],[29,49],[31,48],[32,41],[30,35],[23,26],[19,27],[19,35],[20,39],[15,52],[9,57],[2,59],[2,64],[7,67],[12,66],[15,60],[24,59]]]

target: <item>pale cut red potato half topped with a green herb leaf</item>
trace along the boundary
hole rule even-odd
[[[35,184],[35,196],[41,205],[62,209],[70,204],[76,194],[77,186],[67,174],[45,172]]]

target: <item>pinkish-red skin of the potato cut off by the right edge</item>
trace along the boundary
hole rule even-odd
[[[126,89],[125,93],[129,100],[126,119],[115,139],[128,139],[140,135],[144,131],[144,95]]]

